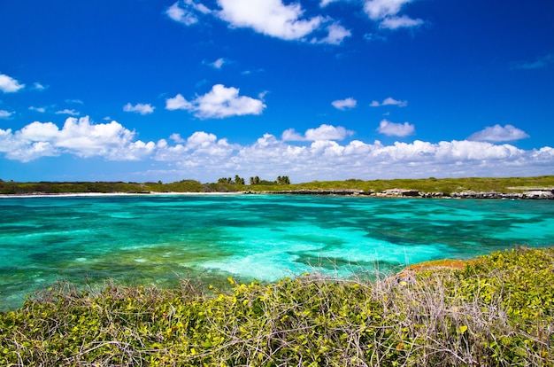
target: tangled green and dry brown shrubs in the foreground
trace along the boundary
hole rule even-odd
[[[0,313],[0,364],[554,365],[554,248],[372,283],[229,282],[210,294],[58,285]]]

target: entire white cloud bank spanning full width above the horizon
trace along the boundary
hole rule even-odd
[[[294,130],[293,130],[294,131]],[[27,162],[41,157],[72,154],[105,160],[150,160],[159,168],[148,179],[159,179],[168,166],[168,179],[183,175],[202,180],[220,176],[257,175],[274,178],[288,175],[294,182],[347,178],[417,178],[429,176],[538,176],[550,174],[554,149],[522,150],[511,144],[481,141],[381,144],[352,140],[346,129],[322,125],[308,129],[306,143],[289,144],[272,134],[252,144],[230,144],[226,138],[196,131],[183,138],[175,133],[154,142],[135,140],[135,133],[119,122],[94,124],[88,117],[68,118],[62,129],[52,122],[33,122],[12,132],[0,129],[0,152],[5,158]],[[283,136],[285,133],[283,133]],[[299,136],[299,134],[297,134]],[[148,176],[148,173],[144,174]]]

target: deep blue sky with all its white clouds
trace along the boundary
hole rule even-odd
[[[0,0],[0,178],[554,174],[551,0]]]

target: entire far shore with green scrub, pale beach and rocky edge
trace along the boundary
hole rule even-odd
[[[290,183],[289,176],[274,181],[240,176],[219,178],[217,183],[181,180],[158,182],[35,182],[21,183],[0,179],[2,195],[71,193],[171,193],[244,192],[307,195],[366,195],[377,197],[476,198],[476,199],[554,199],[554,176],[422,178],[364,181],[312,181]]]

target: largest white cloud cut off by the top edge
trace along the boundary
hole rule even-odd
[[[212,11],[203,4],[185,0],[174,3],[166,14],[172,20],[191,26],[198,22],[202,14],[212,13],[230,27],[250,28],[263,35],[288,41],[307,41],[308,35],[325,33],[327,35],[322,37],[312,37],[310,42],[340,44],[350,36],[350,30],[329,17],[318,15],[305,18],[304,9],[299,3],[283,4],[281,0],[218,0],[218,4],[220,9]]]

